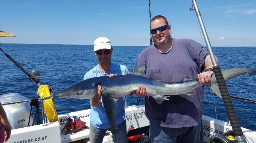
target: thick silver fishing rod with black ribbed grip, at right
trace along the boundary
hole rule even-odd
[[[232,126],[232,130],[233,130],[233,134],[235,136],[235,140],[236,140],[236,142],[239,142],[239,143],[246,143],[245,138],[244,138],[244,134],[243,134],[242,129],[241,129],[241,125],[239,123],[239,120],[238,120],[238,117],[236,115],[234,106],[232,104],[232,100],[231,100],[231,97],[229,95],[229,91],[227,89],[227,85],[224,81],[224,77],[222,75],[221,68],[220,68],[219,64],[216,62],[215,55],[213,54],[212,47],[211,47],[211,44],[210,44],[210,41],[209,41],[209,37],[208,37],[207,32],[205,30],[203,19],[201,17],[200,11],[198,9],[196,0],[192,0],[192,6],[190,7],[190,10],[196,12],[196,14],[197,14],[197,18],[198,18],[198,21],[200,23],[201,30],[203,32],[204,40],[206,42],[206,45],[207,45],[207,48],[208,48],[208,51],[209,51],[209,54],[210,54],[210,58],[212,60],[213,72],[215,73],[215,76],[216,76],[216,81],[218,83],[219,90],[221,92],[222,100],[224,102],[224,105],[225,105],[225,108],[226,108],[226,111],[227,111],[227,115],[228,115],[228,118],[230,120],[230,124]]]

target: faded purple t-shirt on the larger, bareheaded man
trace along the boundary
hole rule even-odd
[[[204,70],[204,60],[209,52],[200,43],[189,39],[173,39],[168,53],[158,51],[155,45],[144,49],[137,58],[134,69],[146,65],[149,78],[165,82],[180,82],[184,77],[197,79]],[[171,95],[158,104],[154,98],[145,97],[145,115],[161,127],[181,128],[198,125],[203,116],[204,86],[194,89],[194,95]]]

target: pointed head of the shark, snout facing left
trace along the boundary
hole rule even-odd
[[[97,86],[98,84],[90,79],[83,80],[82,82],[76,83],[75,85],[56,93],[55,97],[80,99],[92,98],[97,92]]]

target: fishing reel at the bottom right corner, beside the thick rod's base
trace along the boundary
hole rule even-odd
[[[210,137],[208,143],[237,143],[233,131]]]

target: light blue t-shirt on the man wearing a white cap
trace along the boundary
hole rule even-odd
[[[93,77],[106,76],[107,74],[124,75],[128,73],[129,73],[129,70],[126,68],[126,66],[113,64],[113,63],[111,63],[110,69],[108,70],[107,73],[102,73],[98,64],[96,67],[94,67],[84,75],[84,80],[90,79]],[[121,124],[125,119],[124,103],[125,102],[123,101],[123,97],[116,98],[114,100],[116,125]],[[103,129],[110,128],[103,104],[101,104],[99,107],[91,106],[90,123],[91,125],[97,128],[103,128]]]

